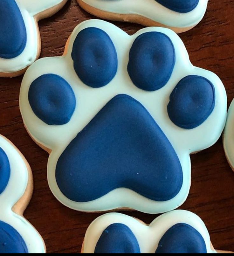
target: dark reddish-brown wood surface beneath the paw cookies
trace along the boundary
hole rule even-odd
[[[42,38],[40,57],[62,55],[67,38],[80,22],[93,18],[75,0],[51,18],[39,22]],[[133,34],[141,25],[114,22]],[[181,34],[191,62],[216,73],[228,94],[234,97],[234,1],[210,0],[203,21]],[[45,240],[48,253],[79,253],[88,225],[100,214],[73,211],[60,204],[46,179],[48,154],[27,134],[19,111],[22,76],[0,78],[0,134],[9,138],[31,165],[35,190],[25,217]],[[192,186],[180,207],[198,214],[205,222],[216,249],[234,251],[234,173],[224,156],[222,139],[209,149],[191,156]],[[150,223],[156,215],[127,213]]]

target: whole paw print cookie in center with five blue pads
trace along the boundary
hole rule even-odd
[[[20,110],[50,153],[48,182],[79,211],[160,213],[189,193],[189,154],[214,144],[226,119],[221,80],[193,66],[173,31],[129,36],[102,20],[79,24],[62,57],[26,72]]]

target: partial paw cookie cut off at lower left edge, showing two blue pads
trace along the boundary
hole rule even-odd
[[[43,239],[23,217],[32,190],[29,164],[0,136],[0,253],[45,253]]]

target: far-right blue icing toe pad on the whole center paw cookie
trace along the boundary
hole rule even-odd
[[[215,89],[204,77],[190,75],[176,85],[170,95],[168,114],[171,121],[185,129],[202,124],[215,107]]]

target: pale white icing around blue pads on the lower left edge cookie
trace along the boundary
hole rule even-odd
[[[0,147],[10,162],[10,180],[0,194],[0,220],[19,232],[29,253],[45,253],[44,242],[36,229],[25,218],[12,211],[12,207],[24,195],[27,187],[27,166],[17,150],[2,136],[0,136]]]

